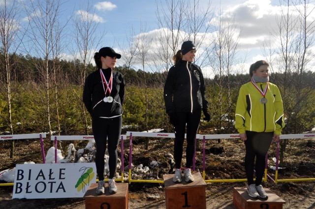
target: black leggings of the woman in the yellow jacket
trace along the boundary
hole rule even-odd
[[[273,132],[253,132],[246,131],[247,140],[245,141],[245,172],[248,185],[255,183],[261,184],[265,170],[265,157],[273,139]],[[256,157],[256,180],[253,180],[254,160]]]

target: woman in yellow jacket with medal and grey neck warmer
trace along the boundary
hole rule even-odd
[[[235,128],[245,143],[245,171],[250,197],[267,199],[261,186],[265,156],[272,141],[279,141],[284,128],[284,108],[278,87],[269,83],[269,63],[264,60],[250,67],[251,82],[240,88],[235,111]],[[256,157],[256,179],[253,180]]]

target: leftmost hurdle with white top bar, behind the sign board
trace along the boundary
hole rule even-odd
[[[45,133],[35,134],[14,134],[14,135],[0,135],[1,140],[18,140],[18,139],[40,139],[41,154],[43,157],[43,163],[45,163],[45,150],[43,138],[46,138]],[[0,186],[13,186],[14,183],[0,183]]]

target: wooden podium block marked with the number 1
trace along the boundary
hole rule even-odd
[[[194,181],[174,183],[173,174],[163,175],[166,209],[206,209],[206,182],[200,173],[192,174]]]

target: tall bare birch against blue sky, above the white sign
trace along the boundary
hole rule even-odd
[[[46,118],[48,131],[50,135],[53,135],[51,125],[51,94],[54,92],[53,87],[56,86],[54,84],[54,69],[56,69],[54,64],[56,62],[51,64],[50,60],[58,59],[57,49],[61,38],[61,3],[60,0],[35,0],[30,1],[30,4],[26,6],[28,7],[27,11],[30,22],[29,38],[32,43],[32,48],[29,51],[36,52],[36,56],[42,59],[41,63],[36,65],[36,68],[41,75],[41,81],[45,87],[43,102],[45,103],[46,110],[43,118]],[[38,88],[38,90],[40,89]],[[57,93],[55,91],[55,95]],[[58,100],[55,100],[55,104],[58,106]],[[60,123],[57,126],[60,126]]]

